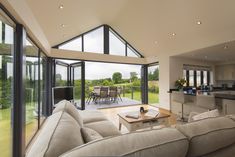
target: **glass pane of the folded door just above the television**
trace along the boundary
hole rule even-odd
[[[67,86],[68,68],[64,65],[56,64],[56,86]]]

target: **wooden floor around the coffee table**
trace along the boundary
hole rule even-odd
[[[118,121],[118,113],[121,112],[130,112],[130,111],[139,111],[140,107],[144,107],[145,109],[156,109],[155,106],[151,105],[135,105],[135,106],[125,106],[125,107],[115,107],[115,108],[107,108],[107,109],[99,109],[99,111],[103,112],[108,119],[113,122],[113,124],[118,128],[119,121]],[[169,117],[169,125],[175,125],[176,124],[176,117],[174,114],[171,114],[169,111],[164,110],[164,109],[159,109],[160,112],[170,114],[171,116]],[[154,128],[161,128],[164,126],[157,126]],[[128,130],[125,128],[125,126],[122,127],[121,130],[122,133],[127,133]]]

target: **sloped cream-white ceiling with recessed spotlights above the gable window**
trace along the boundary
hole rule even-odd
[[[216,51],[235,40],[234,0],[26,0],[51,46],[108,24],[144,56]],[[60,5],[64,9],[59,9]],[[201,25],[197,25],[201,21]],[[65,28],[61,28],[65,24]],[[176,33],[172,36],[172,33]],[[157,44],[155,44],[155,41]],[[214,48],[211,48],[215,46]],[[233,49],[232,49],[233,48]],[[235,53],[231,47],[230,53]],[[208,55],[209,56],[209,55]]]

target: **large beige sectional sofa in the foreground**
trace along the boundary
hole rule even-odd
[[[85,143],[81,128],[95,130],[102,138]],[[121,135],[101,112],[78,111],[62,101],[47,118],[26,156],[234,157],[235,116]]]

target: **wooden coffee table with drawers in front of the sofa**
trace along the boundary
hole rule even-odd
[[[119,113],[118,114],[119,130],[121,130],[122,125],[124,125],[130,132],[136,131],[139,129],[144,129],[144,128],[152,129],[154,126],[157,126],[157,125],[168,126],[169,125],[168,118],[170,117],[170,114],[162,113],[161,111],[158,111],[158,112],[159,114],[156,117],[147,116],[146,113],[140,113],[139,111]],[[126,115],[128,114],[139,114],[139,118],[138,119],[127,118]]]

